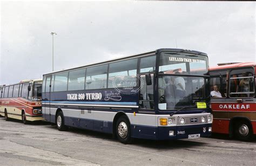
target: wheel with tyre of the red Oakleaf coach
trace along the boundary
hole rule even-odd
[[[240,121],[235,125],[235,137],[241,141],[250,141],[253,136],[251,124],[248,121]]]

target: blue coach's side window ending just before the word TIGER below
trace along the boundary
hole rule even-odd
[[[66,91],[68,88],[68,72],[55,74],[53,92]]]

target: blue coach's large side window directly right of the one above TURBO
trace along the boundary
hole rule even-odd
[[[109,64],[108,88],[136,87],[137,61],[136,58]]]

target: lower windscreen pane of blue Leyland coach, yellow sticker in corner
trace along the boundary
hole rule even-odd
[[[159,75],[158,94],[161,110],[206,108],[205,79],[201,77]]]

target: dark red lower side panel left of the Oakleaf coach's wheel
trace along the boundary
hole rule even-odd
[[[228,134],[230,126],[230,120],[213,119],[212,133]]]

